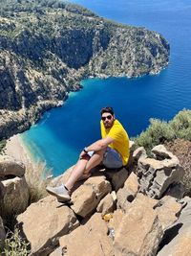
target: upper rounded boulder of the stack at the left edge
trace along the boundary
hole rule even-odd
[[[8,155],[0,155],[0,177],[7,176],[23,176],[25,174],[25,166],[23,163],[16,161]]]

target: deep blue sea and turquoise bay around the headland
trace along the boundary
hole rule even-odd
[[[22,138],[34,159],[46,161],[54,175],[73,165],[78,152],[99,138],[99,109],[113,105],[130,136],[149,119],[170,120],[191,108],[191,2],[188,0],[75,0],[100,16],[157,31],[169,41],[169,66],[156,76],[129,80],[82,81],[83,90],[54,108]]]

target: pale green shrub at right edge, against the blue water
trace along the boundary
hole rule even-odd
[[[150,119],[150,126],[140,133],[135,140],[137,147],[144,147],[149,153],[151,149],[164,141],[181,138],[191,141],[191,110],[181,110],[172,121]]]

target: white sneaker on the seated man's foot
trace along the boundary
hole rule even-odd
[[[58,201],[68,201],[71,199],[69,191],[61,185],[59,187],[46,187],[46,191],[52,196],[56,197]]]

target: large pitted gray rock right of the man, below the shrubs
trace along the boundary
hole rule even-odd
[[[184,170],[180,167],[178,158],[162,145],[155,147],[153,152],[157,159],[138,159],[140,192],[151,198],[161,198],[171,184],[180,182]]]

